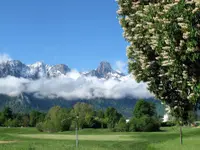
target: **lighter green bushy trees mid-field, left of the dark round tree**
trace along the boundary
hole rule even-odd
[[[96,112],[90,104],[76,103],[71,110],[59,106],[52,107],[45,120],[37,124],[37,129],[44,132],[74,130],[76,126],[79,129],[114,129],[116,126],[118,126],[117,128],[123,126],[124,120],[120,121],[120,118],[122,115],[115,108],[109,107],[106,111]]]

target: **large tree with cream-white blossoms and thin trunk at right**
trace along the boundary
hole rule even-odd
[[[200,81],[200,5],[187,0],[118,0],[129,72],[170,106],[181,125]]]

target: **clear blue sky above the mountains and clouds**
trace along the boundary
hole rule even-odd
[[[2,0],[0,53],[88,70],[127,61],[114,0]]]

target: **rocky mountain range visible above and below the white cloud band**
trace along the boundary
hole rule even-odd
[[[0,63],[0,79],[6,77],[23,78],[28,80],[39,79],[54,79],[67,76],[72,69],[65,64],[47,65],[43,62],[36,62],[31,65],[26,65],[18,60],[9,60]],[[114,81],[126,81],[130,78],[130,75],[125,75],[119,71],[114,70],[110,63],[101,62],[99,66],[91,71],[79,72],[81,77],[95,77],[98,80],[114,80]],[[106,91],[105,91],[106,92]],[[134,92],[134,91],[133,91]],[[116,93],[120,94],[120,93]],[[124,96],[117,99],[109,97],[96,97],[96,98],[76,98],[71,100],[65,100],[63,97],[49,98],[48,96],[35,96],[37,93],[21,92],[15,96],[9,96],[9,94],[0,94],[0,109],[5,106],[11,107],[15,112],[27,112],[32,109],[40,111],[48,111],[54,105],[60,105],[62,107],[73,107],[76,102],[86,102],[92,104],[96,109],[106,109],[107,107],[115,107],[123,115],[130,117],[132,115],[133,107],[138,100],[134,96]],[[160,115],[163,115],[164,108],[159,101],[154,98],[146,98],[148,101],[152,101],[156,104],[157,110]]]

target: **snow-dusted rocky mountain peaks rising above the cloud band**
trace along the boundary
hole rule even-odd
[[[61,75],[66,75],[71,69],[65,64],[47,65],[43,62],[36,62],[31,65],[25,65],[18,60],[10,60],[0,63],[0,78],[7,76],[15,76],[17,78],[39,79],[53,78]],[[80,73],[83,76],[94,76],[100,79],[117,79],[124,77],[121,72],[112,69],[108,62],[101,62],[97,69],[85,73]]]

